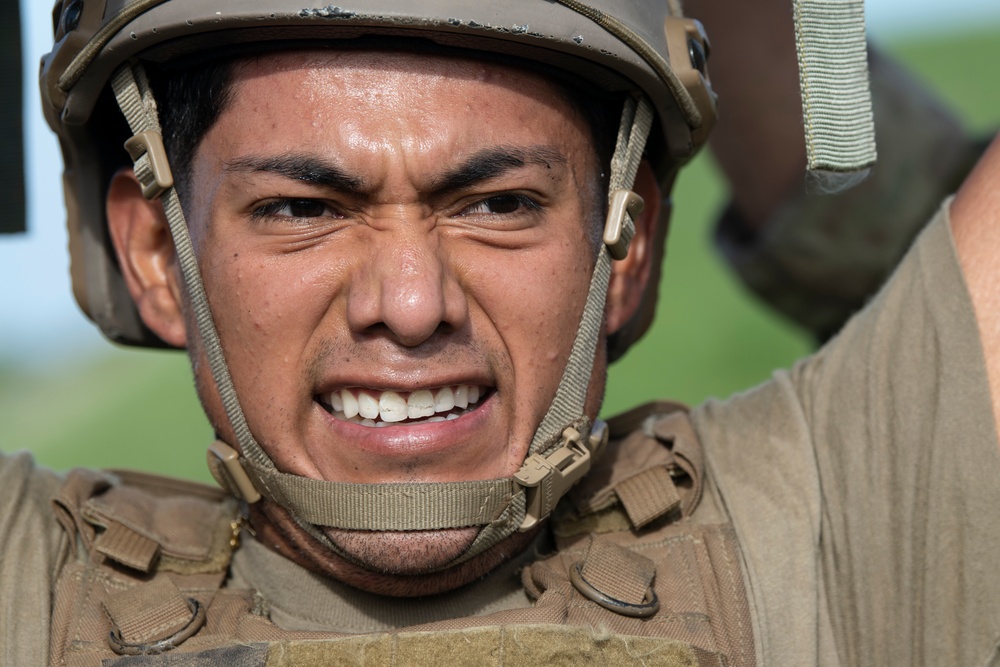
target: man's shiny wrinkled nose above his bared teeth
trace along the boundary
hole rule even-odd
[[[368,261],[349,293],[352,331],[383,332],[415,347],[464,325],[468,304],[445,253],[433,231],[416,227],[372,234]]]

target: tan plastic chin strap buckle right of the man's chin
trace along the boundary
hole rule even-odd
[[[514,474],[514,481],[524,487],[527,496],[527,510],[518,531],[530,530],[548,517],[566,492],[587,474],[607,443],[608,425],[596,420],[589,437],[568,427],[559,449],[548,456],[529,456]]]

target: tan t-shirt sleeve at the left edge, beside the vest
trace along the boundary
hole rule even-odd
[[[0,665],[48,664],[62,529],[49,499],[60,478],[26,453],[0,453]]]

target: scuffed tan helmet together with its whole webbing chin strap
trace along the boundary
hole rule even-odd
[[[599,0],[591,5],[577,0],[364,0],[305,9],[301,0],[64,0],[54,19],[57,42],[44,59],[41,85],[46,116],[59,134],[66,164],[77,300],[111,338],[157,344],[126,292],[106,231],[106,188],[113,171],[128,164],[119,149],[124,142],[144,194],[162,198],[200,340],[237,439],[210,448],[210,467],[220,484],[248,502],[263,495],[288,508],[304,530],[337,552],[318,527],[400,531],[481,526],[465,553],[445,567],[532,528],[551,513],[606,442],[606,429],[591,424],[584,403],[612,258],[627,253],[635,232],[633,217],[642,207],[631,188],[644,151],[666,181],[705,143],[715,121],[715,97],[705,69],[708,42],[697,22],[680,16],[675,0]],[[284,473],[250,432],[229,377],[173,187],[144,63],[240,45],[259,48],[265,42],[321,40],[349,46],[353,39],[369,37],[416,38],[436,48],[516,58],[569,73],[623,100],[610,164],[604,244],[580,327],[552,404],[512,478],[345,484]],[[108,105],[112,92],[130,130]],[[634,337],[648,323],[652,299],[646,301],[639,324],[630,329]]]

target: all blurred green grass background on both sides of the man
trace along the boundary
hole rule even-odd
[[[972,132],[1000,126],[1000,30],[883,43],[959,111]],[[711,158],[686,170],[656,325],[611,370],[605,412],[653,398],[698,403],[766,379],[811,341],[771,315],[710,246],[726,200]],[[11,286],[5,286],[10,289]],[[136,468],[208,480],[212,433],[184,355],[125,350],[28,372],[0,366],[0,449],[31,449],[45,465]]]

